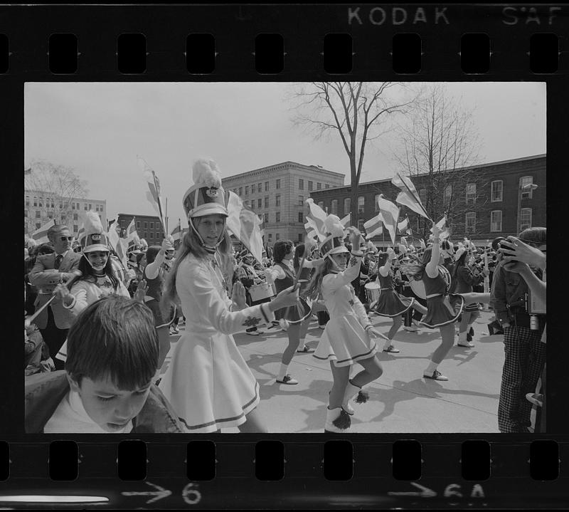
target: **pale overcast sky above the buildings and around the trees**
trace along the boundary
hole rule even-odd
[[[474,108],[481,162],[546,152],[545,83],[448,83]],[[198,157],[218,162],[222,177],[287,160],[346,174],[336,136],[315,141],[293,127],[285,83],[26,83],[25,164],[73,167],[107,214],[154,214],[137,167],[143,157],[168,197],[169,230]],[[370,142],[361,181],[393,176],[390,135]],[[349,184],[349,177],[346,178]]]

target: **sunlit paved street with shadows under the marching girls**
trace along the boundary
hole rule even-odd
[[[351,432],[499,432],[497,422],[501,368],[504,362],[502,336],[488,335],[486,323],[491,313],[482,312],[474,323],[474,348],[456,345],[440,371],[447,382],[424,379],[422,371],[428,357],[440,343],[439,331],[421,329],[395,335],[398,354],[380,352],[383,375],[366,386],[370,399],[353,404]],[[387,333],[390,320],[372,315],[373,325]],[[323,432],[328,392],[332,377],[329,362],[311,354],[295,354],[290,374],[297,385],[279,385],[275,373],[287,333],[280,328],[265,335],[235,335],[235,343],[260,384],[258,407],[269,432]],[[323,331],[314,320],[307,335],[307,345],[316,348]],[[184,333],[184,330],[181,330]],[[177,343],[179,336],[171,336]],[[383,348],[383,340],[378,340]],[[169,363],[169,357],[162,368]],[[358,372],[359,365],[352,372]],[[223,429],[238,432],[238,429]]]

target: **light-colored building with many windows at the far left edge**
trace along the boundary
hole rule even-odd
[[[65,224],[77,235],[81,226],[81,214],[93,210],[99,214],[101,224],[107,227],[107,200],[57,197],[40,190],[23,191],[23,232],[33,231],[55,219],[56,224]]]

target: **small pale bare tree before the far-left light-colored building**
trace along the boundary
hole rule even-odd
[[[46,160],[33,160],[30,171],[24,174],[24,191],[30,196],[31,207],[41,211],[41,219],[55,219],[67,224],[72,213],[74,199],[87,196],[87,182],[80,179],[70,167],[55,165]]]

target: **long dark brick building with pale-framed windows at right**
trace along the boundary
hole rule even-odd
[[[464,172],[467,180],[461,179]],[[457,177],[447,180],[441,194],[459,200],[459,208],[448,219],[452,239],[458,240],[467,236],[477,244],[486,244],[487,240],[496,236],[518,234],[529,226],[546,226],[546,155],[534,155],[481,164],[467,169],[457,169],[452,172]],[[413,184],[425,204],[427,190],[425,174],[413,176]],[[534,190],[521,189],[522,185],[534,184]],[[380,179],[359,185],[357,212],[350,204],[351,187],[336,187],[324,190],[314,190],[310,197],[328,213],[343,217],[353,212],[356,224],[361,231],[363,223],[378,214],[376,197],[383,194],[386,199],[395,202],[400,190],[391,184],[391,179]],[[445,198],[446,199],[446,198]],[[400,220],[408,214],[413,236],[422,237],[422,218],[407,207],[401,207]],[[442,216],[442,215],[441,215]],[[352,216],[352,219],[354,217]],[[435,219],[438,221],[439,219]],[[383,239],[385,238],[385,244]],[[384,236],[376,236],[373,241],[377,245],[387,245],[389,235],[384,230]]]

